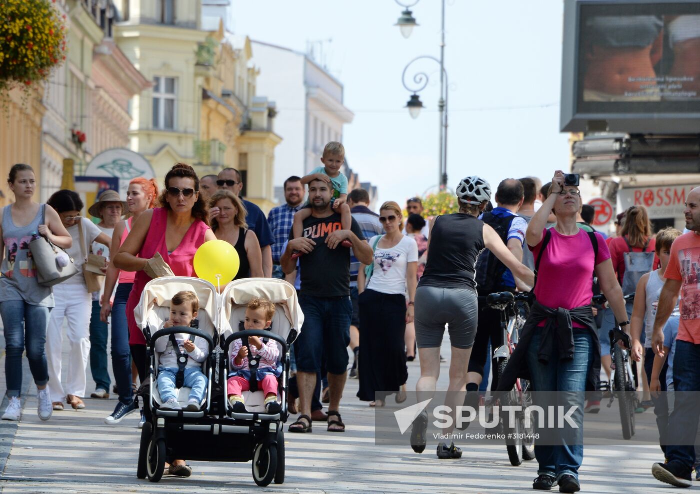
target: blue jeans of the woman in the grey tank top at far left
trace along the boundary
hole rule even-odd
[[[0,302],[0,316],[5,332],[5,379],[8,397],[20,395],[22,353],[25,348],[34,382],[37,386],[48,383],[45,345],[50,311],[48,307],[30,305],[22,300]]]

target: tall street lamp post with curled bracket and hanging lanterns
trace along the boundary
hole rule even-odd
[[[401,34],[404,38],[408,38],[412,31],[413,28],[419,24],[416,23],[415,18],[413,17],[413,13],[411,10],[409,10],[409,7],[414,6],[416,3],[418,3],[420,0],[416,0],[413,3],[402,3],[399,0],[395,0],[396,3],[398,3],[400,6],[405,8],[403,12],[401,13],[401,17],[398,18],[398,21],[395,26],[398,26],[401,30]],[[439,183],[440,183],[440,189],[444,190],[444,188],[447,186],[447,71],[444,69],[444,0],[441,2],[442,5],[442,11],[440,13],[440,21],[441,21],[441,27],[440,27],[440,58],[435,58],[431,57],[430,55],[423,55],[421,57],[416,57],[412,59],[408,64],[405,66],[405,69],[403,69],[403,74],[402,74],[402,83],[403,86],[409,90],[412,91],[413,94],[411,95],[411,98],[406,104],[406,108],[408,108],[408,111],[411,115],[412,118],[418,118],[418,115],[421,111],[421,108],[423,108],[423,103],[418,97],[418,92],[423,90],[426,85],[428,85],[428,74],[425,72],[418,72],[416,73],[412,80],[413,83],[416,84],[416,87],[412,89],[407,85],[406,83],[406,71],[408,70],[409,66],[413,64],[413,62],[416,62],[416,60],[419,59],[431,59],[440,64],[440,100],[437,101],[437,109],[440,111],[440,161],[438,162],[440,165],[440,172],[439,172]]]

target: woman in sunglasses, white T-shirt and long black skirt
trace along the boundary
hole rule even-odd
[[[397,403],[406,400],[408,368],[404,334],[406,323],[413,322],[418,283],[418,246],[414,239],[401,233],[400,206],[393,201],[382,204],[379,223],[386,233],[369,241],[374,251],[371,276],[367,280],[365,265],[360,264],[357,277],[362,341],[357,396],[370,402],[370,407],[384,407],[386,396],[393,393]]]

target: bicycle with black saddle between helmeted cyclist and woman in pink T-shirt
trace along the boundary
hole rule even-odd
[[[493,309],[500,311],[500,327],[503,330],[503,344],[493,350],[493,372],[497,381],[503,376],[505,366],[515,350],[520,336],[520,330],[525,324],[529,306],[526,301],[528,293],[511,292],[491,293],[486,297],[486,303]],[[507,395],[500,398],[500,409],[503,406],[518,406],[513,427],[510,427],[509,416],[501,414],[500,427],[505,436],[505,449],[508,452],[510,464],[517,467],[522,460],[535,459],[534,420],[532,416],[528,421],[529,427],[525,427],[525,410],[532,404],[532,389],[530,381],[517,379],[515,386]]]

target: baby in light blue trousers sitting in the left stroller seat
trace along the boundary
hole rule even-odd
[[[195,292],[177,292],[170,301],[170,318],[163,323],[163,327],[192,325],[200,309],[200,301]],[[207,359],[209,348],[207,341],[195,337],[190,341],[190,335],[186,333],[170,334],[162,336],[155,341],[155,351],[160,353],[158,365],[158,391],[162,400],[163,409],[180,410],[177,400],[176,388],[190,388],[188,411],[198,411],[200,403],[207,392],[207,376],[202,374],[202,362]],[[177,374],[183,367],[184,380],[177,386]]]

